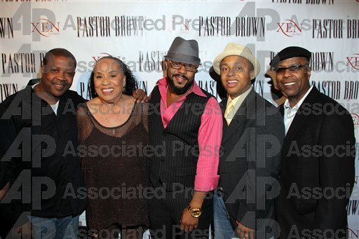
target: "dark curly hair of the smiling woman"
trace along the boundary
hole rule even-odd
[[[137,80],[136,80],[135,76],[133,76],[133,73],[130,70],[130,68],[128,67],[128,65],[123,63],[117,57],[113,57],[113,56],[104,56],[104,57],[100,58],[100,60],[102,60],[102,59],[112,59],[112,60],[115,60],[118,63],[118,65],[124,71],[123,74],[126,76],[126,86],[125,86],[125,88],[123,90],[123,94],[132,95],[133,90],[137,90],[138,83],[137,83]],[[99,60],[97,60],[97,62],[98,61]],[[93,68],[95,68],[95,66]],[[93,71],[91,72],[91,76],[90,76],[89,81],[90,81],[90,98],[93,99],[93,98],[97,97],[97,94],[95,92],[94,72]]]

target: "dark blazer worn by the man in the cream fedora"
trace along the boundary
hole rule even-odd
[[[220,103],[222,111],[227,99]],[[233,229],[236,219],[257,229],[257,238],[273,235],[274,198],[278,195],[284,125],[278,109],[251,90],[228,126],[224,119],[219,186]],[[277,185],[277,186],[276,186]]]

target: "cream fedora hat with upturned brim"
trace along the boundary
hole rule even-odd
[[[215,69],[217,74],[221,74],[220,64],[222,60],[229,55],[238,55],[240,57],[244,57],[250,63],[252,63],[255,71],[255,75],[253,78],[255,78],[259,74],[261,65],[259,64],[257,58],[252,55],[252,51],[250,50],[250,48],[237,43],[228,43],[226,48],[224,49],[224,52],[220,53],[219,55],[217,55],[217,57],[215,57],[215,60],[213,61],[213,69]]]

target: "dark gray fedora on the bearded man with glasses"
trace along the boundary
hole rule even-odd
[[[201,63],[201,59],[198,57],[198,42],[196,40],[185,40],[180,36],[173,40],[170,50],[168,50],[165,57],[168,60],[187,64]]]

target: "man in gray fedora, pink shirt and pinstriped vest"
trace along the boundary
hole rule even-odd
[[[163,146],[149,157],[153,238],[208,238],[211,191],[219,176],[222,114],[215,97],[194,81],[198,43],[175,38],[165,56],[167,76],[149,101],[149,144]]]

